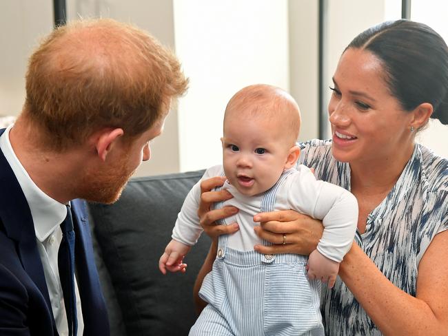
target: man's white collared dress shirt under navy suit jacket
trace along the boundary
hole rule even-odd
[[[41,191],[21,165],[14,153],[14,149],[12,149],[9,139],[9,133],[12,127],[13,125],[10,125],[3,135],[0,136],[0,149],[3,151],[6,160],[19,181],[19,185],[30,207],[34,222],[34,231],[36,231],[37,249],[42,260],[43,273],[45,275],[45,282],[47,282],[58,333],[61,336],[68,335],[67,315],[65,313],[62,286],[58,271],[58,251],[62,240],[62,230],[59,225],[65,219],[67,210],[65,204],[57,202],[57,200],[54,200]],[[83,314],[76,277],[74,280],[74,289],[77,297],[77,335],[83,335]]]

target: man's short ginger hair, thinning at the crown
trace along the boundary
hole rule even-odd
[[[72,21],[30,57],[23,114],[56,151],[105,127],[135,138],[187,84],[176,56],[147,32],[112,19]]]

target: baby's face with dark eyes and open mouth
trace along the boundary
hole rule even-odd
[[[227,180],[243,195],[270,189],[280,178],[291,144],[276,118],[226,118],[223,165]]]

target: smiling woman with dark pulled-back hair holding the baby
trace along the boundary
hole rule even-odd
[[[428,119],[448,123],[448,48],[427,25],[399,20],[370,28],[348,45],[333,77],[332,141],[301,144],[301,163],[349,189],[359,204],[356,243],[338,282],[323,293],[327,335],[448,335],[448,160],[416,145]],[[214,244],[196,295],[216,255],[215,225],[235,209],[210,211],[230,198],[203,181],[198,211]],[[318,221],[281,211],[255,216],[256,233],[274,243],[260,253],[309,254]],[[283,244],[285,235],[286,244]],[[196,297],[197,298],[197,297]],[[201,305],[197,298],[198,305]]]

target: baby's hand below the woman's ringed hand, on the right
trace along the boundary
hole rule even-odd
[[[314,250],[309,255],[307,271],[309,279],[318,279],[322,282],[327,282],[328,287],[332,288],[338,275],[339,263]]]

